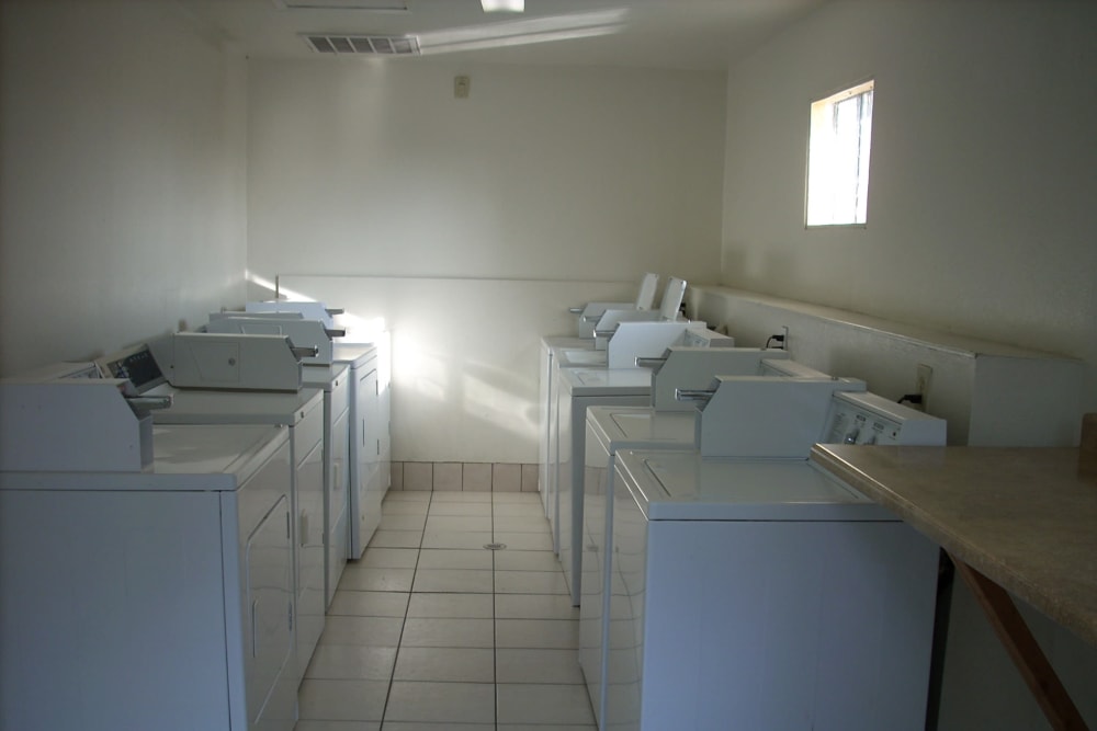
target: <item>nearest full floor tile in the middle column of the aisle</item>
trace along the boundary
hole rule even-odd
[[[495,686],[490,683],[394,681],[385,720],[493,723]]]

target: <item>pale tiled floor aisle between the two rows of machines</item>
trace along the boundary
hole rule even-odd
[[[595,731],[578,616],[538,493],[391,490],[295,731]]]

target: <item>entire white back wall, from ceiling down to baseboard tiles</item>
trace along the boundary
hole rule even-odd
[[[719,269],[724,75],[329,60],[250,65],[249,271],[386,318],[397,461],[536,461],[577,296]]]

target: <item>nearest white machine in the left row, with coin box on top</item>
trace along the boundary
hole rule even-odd
[[[0,385],[0,728],[291,731],[286,430],[154,426],[127,390]]]

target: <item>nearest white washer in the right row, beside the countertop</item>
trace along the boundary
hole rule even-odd
[[[945,422],[842,387],[722,379],[700,453],[618,453],[601,728],[924,728],[937,547],[806,457]]]

